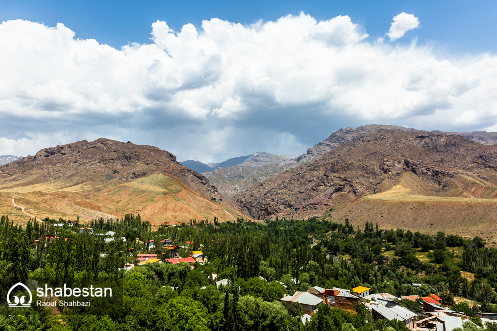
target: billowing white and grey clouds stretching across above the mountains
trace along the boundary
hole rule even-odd
[[[413,28],[404,15],[391,38]],[[157,21],[151,34],[150,44],[117,50],[61,23],[3,22],[0,153],[104,136],[212,162],[299,155],[340,127],[368,123],[497,123],[496,56],[449,61],[422,45],[393,47],[348,16],[250,26],[213,18],[178,31]]]

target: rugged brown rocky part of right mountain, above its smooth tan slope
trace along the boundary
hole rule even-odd
[[[321,216],[330,207],[390,188],[383,183],[396,183],[403,174],[426,184],[427,195],[458,185],[458,174],[497,185],[496,166],[497,146],[460,135],[380,129],[259,183],[237,202],[254,218]]]

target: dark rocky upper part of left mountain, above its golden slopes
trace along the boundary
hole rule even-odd
[[[156,172],[179,180],[205,198],[222,200],[202,174],[183,167],[176,156],[154,146],[100,138],[45,148],[0,167],[2,186],[24,186],[68,176],[74,183],[92,178],[102,183],[128,181]],[[27,176],[33,180],[25,181]]]

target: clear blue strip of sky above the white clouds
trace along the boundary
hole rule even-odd
[[[55,26],[61,22],[76,37],[93,38],[120,48],[128,42],[150,43],[150,26],[157,20],[180,29],[220,18],[251,24],[277,20],[301,11],[318,21],[348,15],[371,36],[388,31],[391,18],[413,13],[421,28],[409,34],[420,43],[436,43],[450,52],[497,52],[497,1],[23,1],[3,0],[0,21],[24,19]]]

